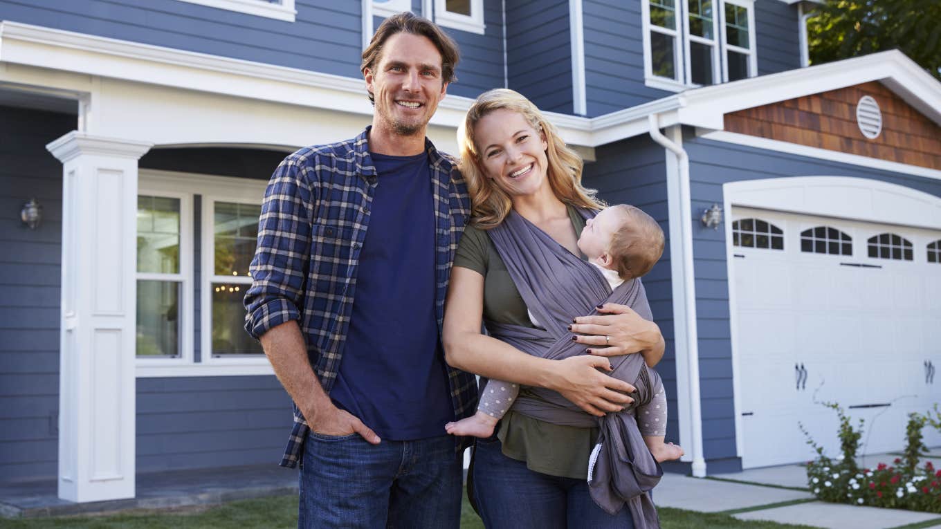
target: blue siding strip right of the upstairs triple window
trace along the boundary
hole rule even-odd
[[[755,25],[759,75],[801,67],[797,6],[784,2],[756,2]]]

